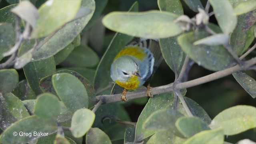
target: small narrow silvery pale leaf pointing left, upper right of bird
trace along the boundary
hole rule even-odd
[[[207,36],[206,38],[202,38],[201,40],[197,40],[194,42],[194,45],[205,44],[207,46],[218,46],[228,44],[228,42],[229,36],[227,34],[214,34]]]

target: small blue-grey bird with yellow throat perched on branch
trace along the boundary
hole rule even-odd
[[[127,90],[134,90],[150,79],[162,62],[162,53],[158,40],[135,38],[114,58],[110,76],[116,84],[123,87],[121,100],[127,102]],[[147,96],[152,97],[147,86]]]

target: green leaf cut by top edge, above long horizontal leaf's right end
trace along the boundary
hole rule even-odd
[[[177,15],[183,15],[183,8],[180,0],[157,0],[160,11],[167,11]]]

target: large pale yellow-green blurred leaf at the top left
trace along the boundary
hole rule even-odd
[[[38,9],[39,18],[36,20],[36,29],[33,30],[32,37],[48,36],[72,20],[80,8],[81,1],[46,1]]]

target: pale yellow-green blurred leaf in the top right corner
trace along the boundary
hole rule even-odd
[[[234,7],[234,14],[241,15],[255,9],[256,9],[255,0],[243,1],[240,4],[238,4],[236,7]]]

